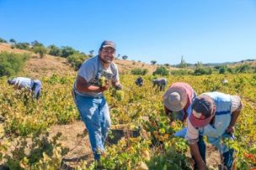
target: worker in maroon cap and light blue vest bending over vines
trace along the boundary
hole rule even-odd
[[[206,167],[203,136],[219,149],[224,166],[232,169],[234,150],[221,143],[221,139],[234,140],[232,130],[241,109],[242,102],[237,95],[210,92],[195,98],[192,112],[189,114],[186,134],[191,155],[195,160],[194,169]]]

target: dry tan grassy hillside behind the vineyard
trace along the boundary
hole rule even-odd
[[[10,44],[0,44],[0,52],[7,51],[9,53],[29,53],[32,54],[32,58],[26,63],[24,68],[24,75],[31,77],[51,76],[56,75],[76,75],[71,65],[67,62],[67,59],[62,57],[56,57],[46,54],[43,59],[40,59],[38,54],[34,54],[31,51],[23,49],[12,49]],[[130,73],[132,69],[141,68],[147,69],[148,74],[152,74],[157,69],[157,65],[146,64],[143,62],[135,62],[131,60],[115,59],[120,74]],[[176,68],[169,68],[175,70]]]

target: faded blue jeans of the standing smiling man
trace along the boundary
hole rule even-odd
[[[104,97],[93,98],[78,94],[75,94],[75,103],[88,130],[94,159],[99,160],[111,124],[109,106]]]

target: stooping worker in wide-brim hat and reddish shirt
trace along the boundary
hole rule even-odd
[[[183,122],[186,120],[195,96],[195,90],[184,82],[173,83],[164,93],[164,111],[170,118],[171,126],[175,125],[175,120]]]

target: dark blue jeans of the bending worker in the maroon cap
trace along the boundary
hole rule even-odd
[[[206,164],[206,160],[205,160],[206,147],[205,147],[205,142],[203,140],[203,136],[199,136],[199,141],[197,142],[197,145],[199,147],[200,156],[202,157],[203,161]],[[233,149],[229,149],[227,152],[222,153],[223,163],[227,167],[228,170],[232,169],[233,153],[234,153]],[[194,157],[192,157],[192,158],[195,161],[195,158]],[[195,162],[195,165],[194,165],[194,169],[197,169],[196,162]]]

